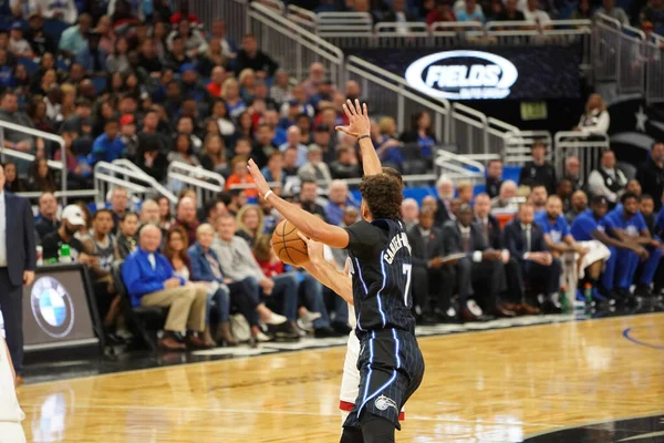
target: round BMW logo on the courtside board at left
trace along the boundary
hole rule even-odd
[[[42,277],[34,282],[30,292],[32,316],[46,334],[61,339],[74,326],[74,305],[60,281],[53,277]]]

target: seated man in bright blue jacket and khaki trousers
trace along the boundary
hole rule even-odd
[[[156,226],[141,229],[139,248],[122,267],[122,278],[132,306],[159,306],[168,309],[159,347],[170,351],[185,350],[176,334],[187,330],[187,344],[206,348],[198,337],[205,330],[207,291],[200,286],[176,277],[173,267],[159,251],[162,231]]]

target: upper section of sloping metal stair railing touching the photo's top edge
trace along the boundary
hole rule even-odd
[[[326,68],[334,84],[342,87],[343,52],[274,12],[258,2],[251,3],[249,25],[261,50],[271,54],[298,81],[304,80],[312,63],[320,62]]]

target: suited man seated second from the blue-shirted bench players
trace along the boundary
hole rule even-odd
[[[505,274],[507,277],[507,297],[509,299],[501,303],[506,310],[513,311],[518,315],[539,313],[539,309],[528,305],[525,301],[523,277],[519,261],[509,254],[502,241],[502,229],[500,223],[494,217],[491,212],[491,199],[487,194],[479,194],[475,198],[475,224],[479,226],[479,230],[489,245],[489,248],[502,251],[502,264],[505,265]]]

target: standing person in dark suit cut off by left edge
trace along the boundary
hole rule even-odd
[[[4,320],[7,346],[22,383],[23,303],[22,286],[34,280],[37,253],[32,208],[27,198],[4,189],[4,168],[0,165],[0,311]],[[11,254],[11,259],[9,256]]]

